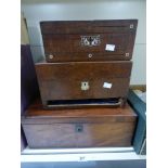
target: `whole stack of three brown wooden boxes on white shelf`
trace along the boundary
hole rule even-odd
[[[127,104],[137,20],[41,22],[41,102],[22,117],[30,147],[129,146]]]

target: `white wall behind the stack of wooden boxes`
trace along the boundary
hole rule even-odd
[[[138,18],[131,85],[146,83],[146,1],[145,0],[22,0],[27,20],[34,61],[43,56],[40,21]]]

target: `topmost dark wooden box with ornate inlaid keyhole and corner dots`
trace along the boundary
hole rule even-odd
[[[128,61],[138,20],[41,22],[47,62]]]

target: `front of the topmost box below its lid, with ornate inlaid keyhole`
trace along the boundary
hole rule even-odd
[[[128,60],[129,34],[98,35],[43,35],[48,62],[87,61],[87,60]],[[92,46],[90,38],[99,37],[99,43]],[[82,39],[86,38],[86,39]],[[87,42],[85,40],[88,40]]]

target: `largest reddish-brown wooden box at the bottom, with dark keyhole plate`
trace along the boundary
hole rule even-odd
[[[137,115],[125,108],[43,109],[33,104],[22,116],[31,148],[130,146]]]

